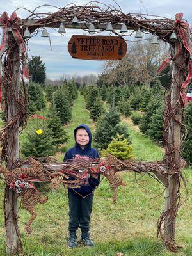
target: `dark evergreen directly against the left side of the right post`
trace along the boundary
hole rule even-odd
[[[164,105],[163,103],[159,105],[156,109],[156,113],[150,117],[149,128],[147,131],[150,138],[163,141],[163,127],[164,127]]]

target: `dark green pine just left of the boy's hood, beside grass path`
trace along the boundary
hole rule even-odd
[[[49,134],[53,140],[53,145],[60,145],[67,142],[67,132],[62,127],[61,119],[57,116],[56,106],[51,106],[49,118],[47,120]]]

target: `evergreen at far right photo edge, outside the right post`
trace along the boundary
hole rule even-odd
[[[182,156],[192,165],[192,102],[188,103],[184,111],[184,124],[188,134],[182,145]]]

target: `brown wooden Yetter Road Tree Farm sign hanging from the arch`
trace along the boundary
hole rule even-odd
[[[120,60],[127,52],[127,44],[120,36],[73,35],[68,52],[72,58],[82,60]]]

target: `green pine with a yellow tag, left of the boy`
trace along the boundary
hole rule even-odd
[[[42,129],[42,134],[37,134],[36,130]],[[39,124],[26,132],[27,141],[22,147],[22,154],[29,157],[45,157],[54,154],[55,147],[52,144],[52,138],[49,135],[47,125]]]

